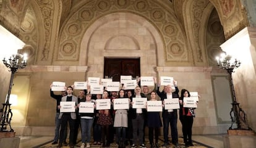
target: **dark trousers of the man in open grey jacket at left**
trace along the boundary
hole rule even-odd
[[[61,118],[61,133],[59,135],[59,144],[62,144],[64,139],[64,131],[67,127],[67,122],[69,122],[69,145],[74,146],[74,128],[75,120],[71,118],[70,113],[63,113]]]

